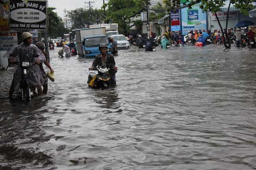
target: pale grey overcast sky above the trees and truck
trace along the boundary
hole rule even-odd
[[[93,8],[100,8],[103,4],[103,0],[90,0],[94,1]],[[73,10],[80,7],[88,7],[89,4],[85,4],[84,2],[89,2],[89,0],[48,0],[48,7],[55,7],[54,12],[58,13],[58,15],[63,18],[64,17],[64,9]],[[106,2],[106,0],[105,0]]]

